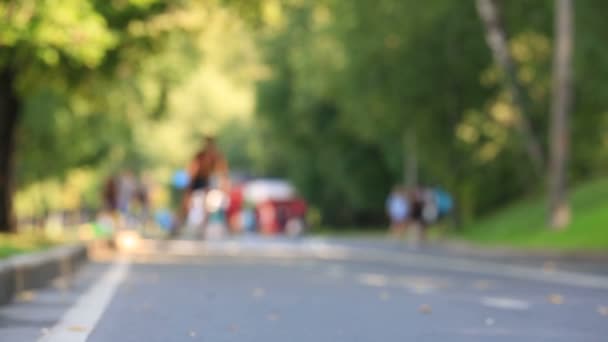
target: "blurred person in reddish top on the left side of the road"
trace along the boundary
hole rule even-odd
[[[188,174],[190,176],[190,184],[186,188],[182,199],[181,209],[175,222],[176,225],[172,231],[173,236],[177,235],[178,230],[181,228],[181,225],[188,215],[194,191],[206,192],[209,190],[212,176],[218,177],[220,190],[227,192],[230,188],[228,162],[217,147],[214,137],[206,136],[204,138],[203,148],[196,153],[188,166]],[[205,209],[205,212],[206,211],[207,210]],[[207,217],[208,215],[205,215],[203,226],[206,223]]]

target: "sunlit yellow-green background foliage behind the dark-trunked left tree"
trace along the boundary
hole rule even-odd
[[[105,177],[124,167],[166,182],[204,132],[221,133],[231,162],[248,168],[258,64],[245,24],[215,1],[89,2],[115,38],[95,66],[17,56],[4,65],[19,67],[23,102],[20,216],[98,206]],[[27,39],[12,49],[32,50]]]

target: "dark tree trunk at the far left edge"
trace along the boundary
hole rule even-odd
[[[0,232],[15,232],[13,212],[15,138],[19,118],[19,98],[15,92],[15,74],[10,68],[0,70]]]

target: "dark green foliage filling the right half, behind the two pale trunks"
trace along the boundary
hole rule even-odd
[[[258,86],[257,109],[271,142],[265,165],[294,179],[327,222],[383,219],[411,132],[422,184],[446,187],[464,221],[543,190],[473,1],[269,3],[274,20],[262,42],[272,73]],[[530,120],[546,148],[553,2],[503,4]],[[572,181],[605,174],[607,104],[599,92],[608,64],[586,57],[605,56],[603,7],[577,3],[576,74],[585,76],[575,85]]]

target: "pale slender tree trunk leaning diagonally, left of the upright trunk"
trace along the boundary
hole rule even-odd
[[[485,27],[488,46],[505,74],[513,102],[519,109],[520,120],[517,128],[524,139],[526,152],[534,166],[534,171],[540,177],[545,164],[543,149],[528,119],[530,107],[528,96],[517,78],[517,66],[509,52],[507,33],[502,22],[499,5],[500,0],[477,0],[477,12]]]

